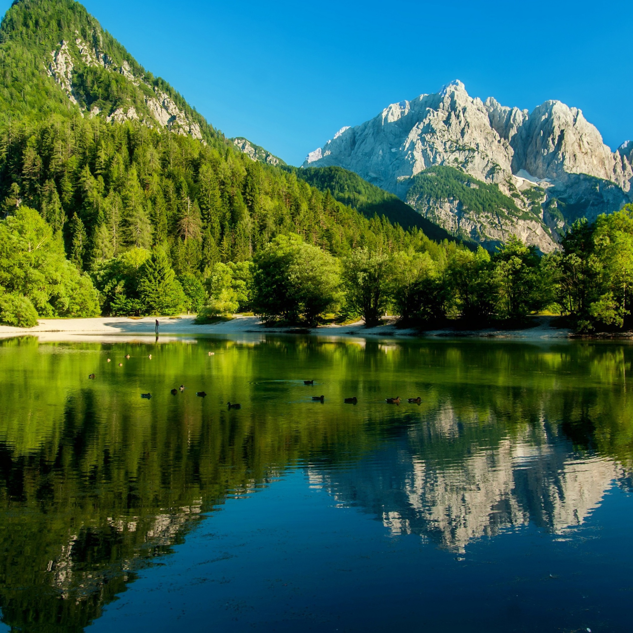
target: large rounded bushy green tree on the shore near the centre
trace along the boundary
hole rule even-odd
[[[266,321],[314,325],[337,303],[337,261],[298,235],[280,235],[255,258],[253,309]]]

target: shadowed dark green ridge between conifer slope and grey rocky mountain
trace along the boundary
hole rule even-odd
[[[408,204],[367,180],[357,173],[342,167],[290,168],[296,176],[316,187],[319,191],[330,191],[339,202],[351,206],[368,218],[385,216],[390,222],[404,229],[420,229],[436,241],[454,240],[453,235],[416,213]]]

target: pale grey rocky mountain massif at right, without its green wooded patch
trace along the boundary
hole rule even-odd
[[[356,172],[444,229],[481,244],[515,234],[549,252],[578,216],[594,220],[633,199],[632,158],[633,143],[612,152],[577,108],[546,101],[529,113],[492,97],[473,99],[455,81],[342,128],[303,165]],[[498,185],[525,213],[499,217],[469,209],[456,196],[411,196],[415,177],[435,166]]]

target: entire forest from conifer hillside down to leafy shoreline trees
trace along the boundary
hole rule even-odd
[[[300,174],[299,174],[300,176]],[[561,251],[495,253],[366,218],[222,139],[99,118],[0,130],[0,320],[253,311],[314,325],[523,323],[549,309],[628,329],[632,208],[577,222]]]

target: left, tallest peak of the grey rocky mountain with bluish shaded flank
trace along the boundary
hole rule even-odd
[[[510,163],[510,145],[492,128],[486,106],[454,82],[439,94],[392,103],[372,120],[342,128],[304,165],[338,165],[400,195],[401,180],[432,166],[459,166],[503,183]]]

